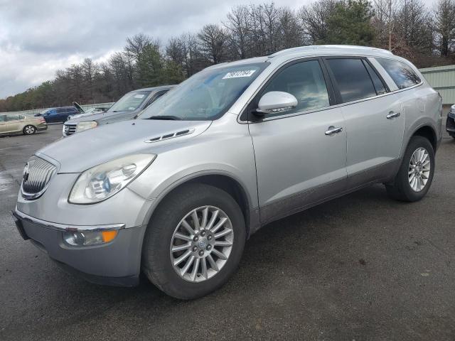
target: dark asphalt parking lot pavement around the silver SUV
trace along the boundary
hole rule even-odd
[[[60,124],[0,139],[0,340],[453,340],[455,141],[427,197],[375,185],[267,225],[227,285],[178,301],[66,274],[16,231],[22,168]]]

